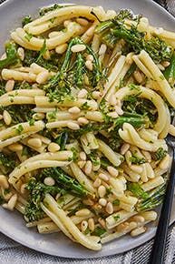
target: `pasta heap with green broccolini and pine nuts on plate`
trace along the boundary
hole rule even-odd
[[[52,5],[0,60],[0,202],[87,249],[155,221],[175,136],[175,33],[129,10]]]

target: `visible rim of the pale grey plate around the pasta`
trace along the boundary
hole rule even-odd
[[[20,22],[24,15],[34,15],[40,7],[54,3],[63,3],[63,0],[9,0],[0,5],[0,52],[4,51],[4,44],[10,32],[15,27],[21,25]],[[173,16],[160,7],[160,5],[156,5],[149,0],[73,0],[73,3],[79,5],[102,5],[105,9],[115,10],[130,8],[135,14],[147,16],[152,25],[162,26],[172,31],[175,28]],[[0,231],[24,246],[54,256],[77,259],[109,256],[133,249],[151,239],[156,230],[155,224],[150,225],[148,231],[138,238],[132,239],[130,236],[124,236],[121,239],[116,239],[111,243],[103,245],[101,251],[93,252],[73,243],[61,233],[40,235],[34,228],[26,228],[24,219],[17,212],[12,213],[0,208],[0,219]],[[175,202],[172,208],[171,223],[174,220]]]

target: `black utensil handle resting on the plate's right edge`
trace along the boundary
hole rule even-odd
[[[164,259],[165,245],[170,222],[170,211],[174,196],[175,187],[175,150],[173,149],[173,159],[170,169],[170,179],[167,184],[165,198],[163,200],[159,224],[151,250],[150,264],[162,264]]]

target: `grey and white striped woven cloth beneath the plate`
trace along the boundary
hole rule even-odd
[[[0,4],[5,0],[0,0]],[[158,1],[156,1],[158,2]],[[168,11],[175,15],[175,0],[160,0]],[[63,259],[28,249],[0,233],[0,264],[147,264],[151,252],[152,240],[137,249],[124,254],[101,259]],[[171,226],[166,244],[165,263],[175,263],[175,227]]]

